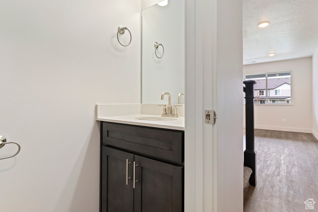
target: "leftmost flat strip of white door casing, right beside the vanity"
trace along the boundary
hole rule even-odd
[[[185,0],[185,135],[184,210],[196,211],[196,12],[195,0]]]

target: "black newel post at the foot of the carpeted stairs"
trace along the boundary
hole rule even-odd
[[[256,150],[254,144],[254,80],[246,80],[245,84],[245,138],[246,149],[244,151],[244,166],[252,169],[250,185],[256,186]]]

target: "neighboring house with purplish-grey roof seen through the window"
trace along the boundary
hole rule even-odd
[[[254,79],[255,104],[265,104],[266,101],[266,80]],[[290,102],[290,77],[268,78],[267,79],[268,103],[291,103]]]

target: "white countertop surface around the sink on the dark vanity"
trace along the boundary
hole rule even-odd
[[[158,127],[173,130],[184,130],[184,117],[172,118],[177,120],[154,121],[154,120],[138,120],[139,117],[161,117],[161,115],[135,114],[125,116],[99,117],[96,120],[108,121],[121,124],[132,124],[147,127]]]

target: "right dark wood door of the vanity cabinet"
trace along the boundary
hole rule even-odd
[[[134,212],[182,212],[183,167],[135,155]]]

